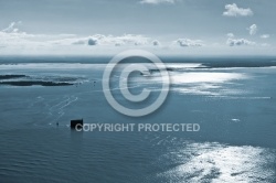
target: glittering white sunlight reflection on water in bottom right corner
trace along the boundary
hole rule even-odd
[[[270,182],[275,175],[275,170],[269,169],[274,153],[250,146],[191,143],[159,160],[177,164],[157,174],[172,182]]]

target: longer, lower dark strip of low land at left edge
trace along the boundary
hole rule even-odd
[[[20,82],[0,82],[0,85],[11,85],[11,86],[71,86],[72,83],[55,83],[55,82],[43,82],[43,80],[20,80]]]

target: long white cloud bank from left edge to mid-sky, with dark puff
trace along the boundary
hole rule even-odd
[[[1,47],[25,47],[28,46],[70,46],[70,45],[88,45],[88,46],[136,46],[150,45],[149,37],[144,35],[124,34],[121,36],[94,34],[86,37],[79,37],[74,34],[29,34],[18,29],[21,22],[11,22],[8,28],[0,31]],[[158,44],[158,43],[156,43]]]

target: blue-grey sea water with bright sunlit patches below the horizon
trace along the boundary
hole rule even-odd
[[[276,63],[167,63],[167,100],[153,114],[132,118],[105,99],[106,64],[1,61],[1,76],[25,77],[0,82],[72,85],[0,85],[0,182],[276,182]],[[114,96],[136,108],[119,94],[119,71],[112,78]],[[158,73],[150,79],[134,74],[128,85],[137,94],[145,87],[153,90],[138,107],[152,103],[160,86]],[[70,120],[79,118],[88,123],[199,123],[201,128],[198,132],[71,130]]]

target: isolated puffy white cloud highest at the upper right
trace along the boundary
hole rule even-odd
[[[225,6],[226,11],[223,12],[223,15],[225,17],[247,17],[253,15],[253,11],[247,8],[238,8],[235,3],[233,4],[226,4]]]

